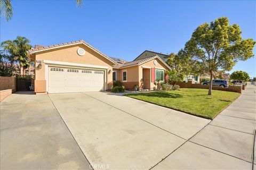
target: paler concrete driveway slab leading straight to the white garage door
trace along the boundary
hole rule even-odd
[[[49,96],[94,169],[149,169],[210,122],[108,92]]]

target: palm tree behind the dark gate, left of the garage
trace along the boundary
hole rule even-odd
[[[6,40],[1,43],[1,47],[20,64],[20,74],[22,74],[22,70],[23,74],[25,74],[27,67],[30,66],[28,50],[31,49],[32,46],[29,42],[29,39],[17,36],[14,40]]]

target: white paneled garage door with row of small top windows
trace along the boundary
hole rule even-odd
[[[104,72],[98,70],[49,67],[48,92],[104,90]]]

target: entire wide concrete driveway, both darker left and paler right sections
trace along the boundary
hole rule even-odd
[[[149,169],[210,122],[108,92],[13,94],[0,120],[1,169]]]

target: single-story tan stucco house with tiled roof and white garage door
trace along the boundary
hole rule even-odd
[[[153,89],[158,79],[165,81],[170,67],[158,56],[132,62],[117,62],[83,40],[29,50],[35,63],[34,90],[40,93],[110,90],[119,80],[126,89],[138,85]]]

